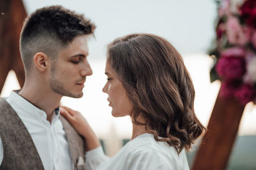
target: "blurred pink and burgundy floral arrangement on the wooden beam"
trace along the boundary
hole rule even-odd
[[[218,2],[211,82],[221,80],[220,96],[256,103],[256,0]]]

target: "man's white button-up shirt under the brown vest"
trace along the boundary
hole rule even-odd
[[[59,118],[60,110],[56,109],[56,114],[54,114],[50,124],[46,120],[45,111],[36,108],[16,92],[12,92],[6,101],[28,129],[44,169],[74,169],[65,131]],[[3,144],[0,136],[0,165],[2,161]]]

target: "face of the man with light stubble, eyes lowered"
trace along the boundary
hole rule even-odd
[[[86,76],[92,75],[87,60],[87,36],[78,36],[70,45],[58,53],[58,59],[52,61],[51,89],[61,96],[79,98],[83,96]]]

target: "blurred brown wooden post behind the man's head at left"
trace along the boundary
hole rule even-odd
[[[0,93],[6,76],[15,71],[20,86],[24,84],[25,73],[20,58],[19,38],[24,19],[27,16],[22,0],[0,0]]]

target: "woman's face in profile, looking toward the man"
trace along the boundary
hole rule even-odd
[[[121,81],[118,80],[116,72],[108,61],[106,62],[105,74],[108,76],[108,81],[102,91],[108,94],[109,106],[112,107],[113,117],[130,115],[132,104],[128,99]]]

